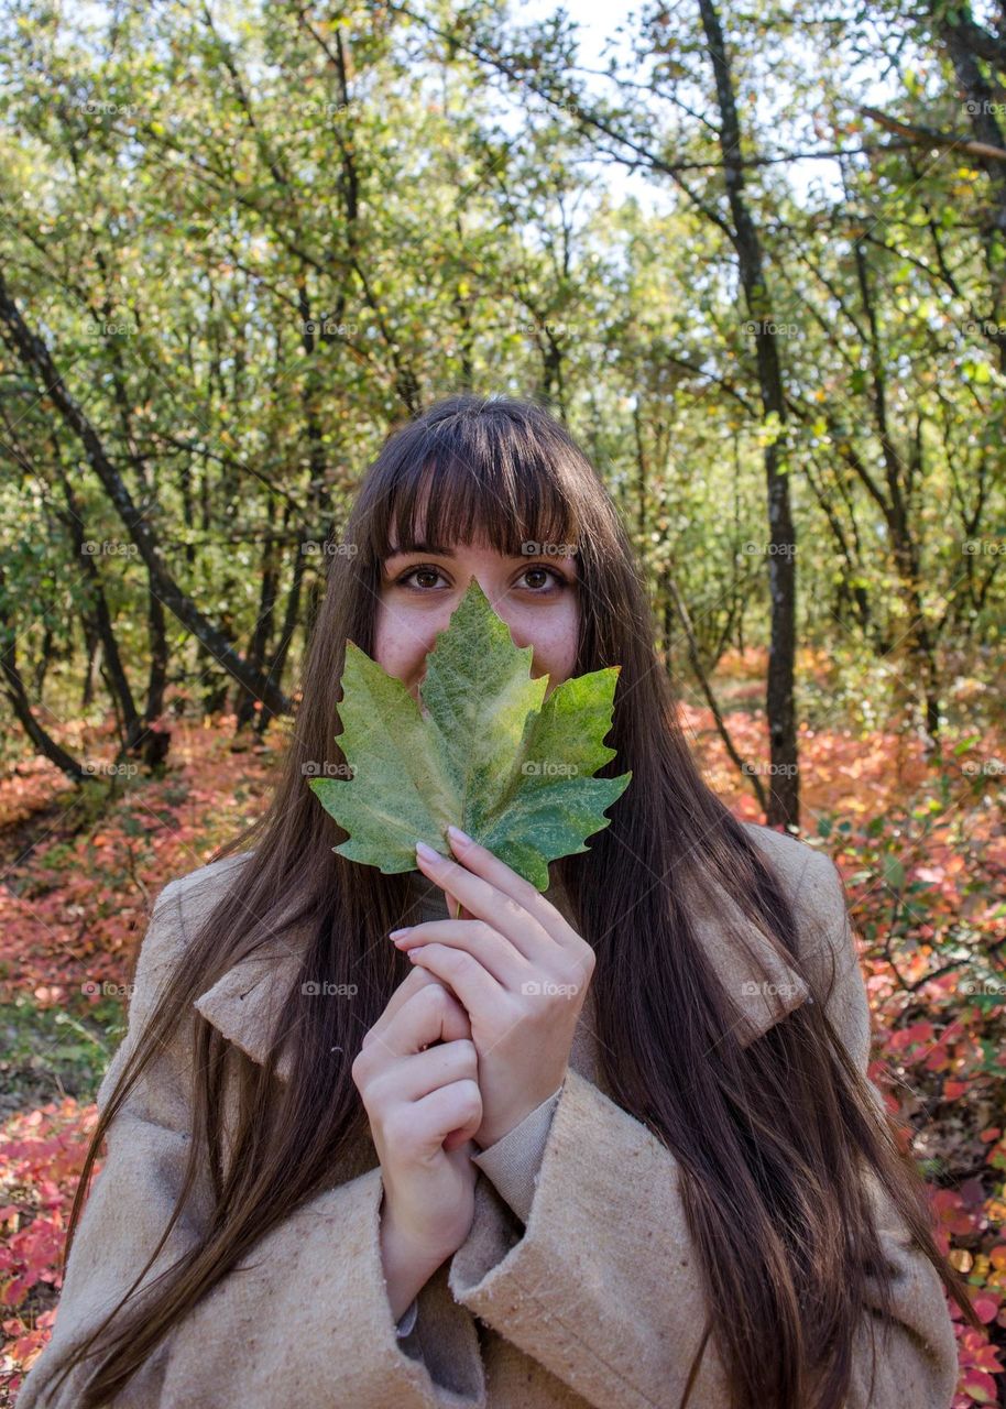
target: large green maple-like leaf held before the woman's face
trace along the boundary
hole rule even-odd
[[[309,783],[349,833],[333,850],[386,875],[414,871],[416,843],[449,855],[454,824],[538,890],[549,861],[588,851],[633,776],[592,776],[616,754],[603,738],[621,666],[564,681],[545,699],[533,655],[475,578],[427,655],[418,703],[347,641],[335,738],[352,776]]]

